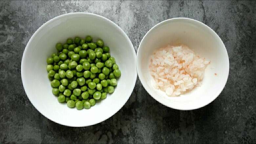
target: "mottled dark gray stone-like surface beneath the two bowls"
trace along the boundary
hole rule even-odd
[[[0,1],[1,143],[256,143],[255,1]],[[227,84],[209,105],[170,109],[154,100],[139,79],[114,116],[72,128],[41,115],[23,90],[20,65],[32,34],[69,12],[91,12],[119,25],[135,50],[159,22],[188,17],[211,27],[230,60]]]

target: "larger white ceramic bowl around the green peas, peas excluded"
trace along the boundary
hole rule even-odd
[[[89,110],[70,109],[52,94],[46,58],[56,52],[57,42],[65,43],[69,37],[85,38],[86,35],[91,35],[94,41],[101,38],[110,47],[122,75],[115,92],[106,99]],[[63,14],[43,24],[32,35],[23,53],[21,77],[29,100],[45,117],[72,127],[94,125],[117,113],[129,99],[137,79],[136,53],[125,32],[109,19],[92,13]]]

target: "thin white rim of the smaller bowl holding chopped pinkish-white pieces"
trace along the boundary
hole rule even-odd
[[[151,31],[157,29],[158,27],[160,27],[161,25],[163,25],[163,24],[165,24],[165,23],[169,23],[169,22],[174,21],[174,20],[181,20],[181,21],[187,21],[187,22],[193,21],[193,22],[196,22],[196,23],[198,23],[199,25],[205,27],[206,29],[209,29],[209,30],[214,34],[214,36],[217,37],[217,39],[218,39],[219,41],[221,41],[222,46],[225,48],[225,55],[227,56],[228,73],[227,73],[227,75],[226,75],[226,77],[225,77],[225,83],[224,83],[224,85],[223,85],[223,88],[219,89],[218,94],[216,94],[215,97],[211,98],[207,103],[202,104],[202,105],[199,105],[199,106],[197,106],[197,107],[195,107],[195,108],[190,108],[190,109],[188,109],[188,108],[178,108],[178,107],[176,107],[176,106],[170,106],[170,105],[167,105],[166,103],[162,103],[162,102],[160,102],[155,96],[153,96],[153,93],[149,92],[149,91],[145,88],[146,83],[143,82],[143,81],[141,81],[141,79],[142,79],[142,74],[139,72],[139,68],[138,68],[138,63],[139,63],[139,61],[138,61],[138,56],[139,56],[139,52],[140,52],[140,49],[141,49],[141,43],[142,43],[142,41],[145,39],[145,37],[147,37],[147,35],[148,35]],[[228,57],[228,53],[227,53],[226,47],[225,47],[223,41],[221,40],[221,38],[219,37],[219,35],[218,35],[215,31],[213,31],[209,26],[205,25],[204,23],[202,23],[202,22],[200,22],[200,21],[197,21],[197,20],[195,20],[195,19],[185,18],[185,17],[170,18],[170,19],[164,20],[164,21],[162,21],[162,22],[156,24],[154,27],[152,27],[152,28],[144,35],[144,37],[143,37],[142,40],[140,41],[140,44],[139,44],[139,47],[138,47],[138,50],[137,50],[137,62],[136,62],[136,66],[137,66],[137,73],[138,73],[138,76],[139,76],[139,80],[140,80],[142,86],[144,87],[144,89],[147,91],[147,93],[149,93],[149,95],[150,95],[151,97],[153,97],[156,101],[158,101],[158,102],[161,103],[162,105],[165,105],[165,106],[167,106],[167,107],[169,107],[169,108],[173,108],[173,109],[176,109],[176,110],[183,110],[183,111],[199,109],[199,108],[202,108],[202,107],[204,107],[204,106],[210,104],[212,101],[214,101],[214,100],[220,95],[220,93],[223,91],[223,89],[224,89],[224,87],[225,87],[225,85],[226,85],[226,83],[227,83],[227,79],[228,79],[228,75],[229,75],[229,57]]]

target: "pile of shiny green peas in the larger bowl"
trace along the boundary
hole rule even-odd
[[[52,93],[60,103],[66,102],[77,110],[89,109],[107,93],[114,93],[121,71],[101,39],[93,42],[91,36],[68,38],[65,44],[57,43],[55,47],[58,52],[46,62]]]

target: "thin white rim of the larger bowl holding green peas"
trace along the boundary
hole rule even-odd
[[[107,117],[104,118],[103,120],[96,121],[96,122],[94,122],[94,123],[92,123],[92,124],[83,124],[83,125],[72,125],[72,124],[71,124],[71,125],[69,125],[69,124],[65,124],[65,123],[61,123],[61,122],[55,121],[55,120],[53,120],[52,118],[48,117],[47,115],[43,114],[43,113],[36,107],[36,105],[31,101],[30,96],[27,94],[28,88],[24,85],[25,79],[24,79],[24,77],[23,77],[23,75],[24,75],[23,71],[25,71],[25,70],[24,70],[24,65],[25,65],[24,59],[25,59],[25,55],[26,55],[26,53],[27,53],[28,46],[31,44],[32,40],[33,40],[34,37],[37,35],[37,33],[38,33],[39,31],[41,31],[41,29],[45,28],[47,25],[49,25],[50,23],[52,23],[53,21],[55,21],[55,20],[57,20],[57,19],[60,19],[60,18],[66,17],[66,16],[73,16],[73,15],[90,15],[90,16],[94,16],[94,17],[98,17],[98,18],[104,19],[104,20],[108,21],[109,23],[111,23],[111,24],[112,24],[116,29],[118,29],[118,30],[124,35],[124,37],[128,40],[128,43],[129,43],[130,47],[133,49],[132,55],[133,55],[133,57],[134,57],[134,59],[135,59],[135,64],[136,64],[137,57],[136,57],[136,51],[135,51],[135,49],[134,49],[134,46],[133,46],[133,44],[132,44],[130,38],[127,36],[127,34],[126,34],[116,23],[114,23],[113,21],[109,20],[109,19],[106,18],[106,17],[103,17],[103,16],[98,15],[98,14],[94,14],[94,13],[89,13],[89,12],[71,12],[71,13],[66,13],[66,14],[58,15],[58,16],[56,16],[56,17],[54,17],[54,18],[48,20],[46,23],[44,23],[43,25],[41,25],[41,26],[33,33],[33,35],[31,36],[31,38],[29,39],[29,41],[28,41],[28,43],[27,43],[27,45],[26,45],[26,47],[25,47],[25,50],[23,51],[22,60],[21,60],[21,70],[20,70],[20,72],[21,72],[22,85],[23,85],[23,88],[24,88],[24,90],[25,90],[25,93],[26,93],[27,97],[29,98],[30,102],[32,103],[32,105],[34,106],[34,108],[35,108],[39,113],[41,113],[43,116],[45,116],[46,118],[50,119],[51,121],[53,121],[53,122],[55,122],[55,123],[58,123],[58,124],[61,124],[61,125],[64,125],[64,126],[69,126],[69,127],[86,127],[86,126],[95,125],[95,124],[101,123],[102,121],[107,120],[108,118],[110,118],[111,116],[113,116],[114,114],[116,114],[116,113],[125,105],[125,103],[128,101],[128,99],[130,98],[130,96],[131,96],[131,94],[132,94],[132,92],[133,92],[133,90],[134,90],[138,73],[137,73],[137,67],[135,66],[136,78],[133,80],[133,85],[132,85],[132,88],[133,88],[133,89],[132,89],[132,91],[130,92],[129,96],[127,96],[127,98],[126,98],[125,101],[123,102],[122,106],[121,106],[119,109],[117,109],[117,111],[115,111],[114,113],[111,113],[109,116],[107,116]]]

